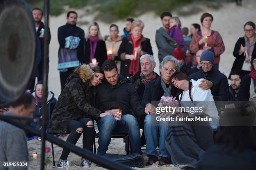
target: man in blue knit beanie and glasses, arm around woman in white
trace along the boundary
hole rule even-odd
[[[191,74],[189,79],[201,81],[199,87],[203,90],[211,89],[212,96],[220,96],[221,100],[228,100],[229,86],[227,77],[215,70],[213,67],[214,53],[212,51],[204,51],[200,57],[201,67],[197,73]]]

